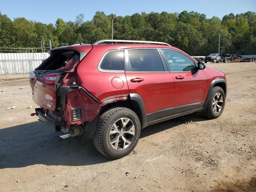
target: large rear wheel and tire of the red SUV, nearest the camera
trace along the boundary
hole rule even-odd
[[[140,138],[140,120],[128,108],[116,107],[100,115],[94,132],[94,145],[110,159],[128,155]]]

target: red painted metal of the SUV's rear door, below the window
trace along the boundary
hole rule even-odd
[[[130,93],[139,94],[145,104],[146,113],[174,107],[174,79],[168,72],[126,72]],[[131,79],[142,78],[142,82]]]

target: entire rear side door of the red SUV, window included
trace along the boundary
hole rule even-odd
[[[142,97],[147,122],[174,112],[174,79],[157,48],[125,50],[129,93]]]

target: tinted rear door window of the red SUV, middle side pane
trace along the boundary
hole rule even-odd
[[[129,68],[132,72],[162,72],[164,67],[157,49],[127,50]]]

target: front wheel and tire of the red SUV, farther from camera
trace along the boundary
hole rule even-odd
[[[210,119],[218,118],[225,106],[225,93],[221,87],[214,87],[211,91],[208,105],[204,111],[204,115]]]

